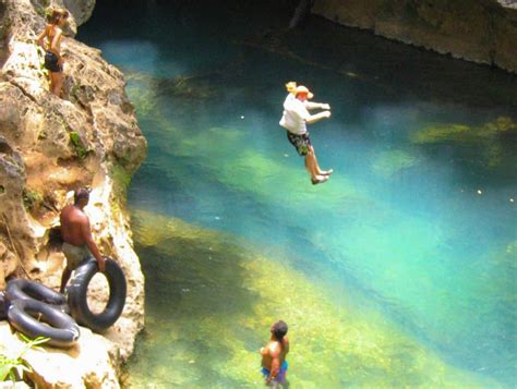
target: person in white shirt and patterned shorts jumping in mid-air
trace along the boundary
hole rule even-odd
[[[305,168],[311,175],[313,185],[328,180],[333,170],[322,170],[317,163],[314,147],[312,146],[306,123],[312,124],[318,120],[330,118],[330,106],[328,104],[311,102],[313,94],[303,86],[296,86],[294,82],[286,84],[289,94],[284,101],[284,114],[280,125],[287,130],[287,138],[297,149],[298,155],[305,158]],[[324,109],[316,114],[309,113],[309,109]]]

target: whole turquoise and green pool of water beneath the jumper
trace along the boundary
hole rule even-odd
[[[107,8],[80,35],[127,74],[149,144],[125,384],[258,385],[281,316],[294,387],[515,387],[517,77],[244,11]],[[324,185],[278,126],[290,80],[332,106],[310,129]]]

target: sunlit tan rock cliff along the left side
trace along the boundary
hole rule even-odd
[[[99,50],[64,38],[64,96],[48,92],[44,53],[35,42],[46,23],[44,2],[49,3],[0,0],[0,290],[12,277],[59,288],[65,265],[55,240],[59,210],[74,189],[92,187],[86,212],[94,238],[128,280],[121,318],[104,337],[93,336],[106,343],[98,348],[105,363],[117,366],[132,353],[144,324],[144,279],[132,248],[125,186],[145,158],[146,141],[125,95],[123,74]],[[72,2],[86,4],[85,10],[94,3]],[[106,294],[106,288],[96,288],[92,304],[101,304]],[[49,354],[61,358],[57,351]],[[35,374],[53,374],[52,357],[35,366]],[[92,370],[84,375],[95,375],[97,367],[88,366]],[[116,377],[115,367],[111,375]],[[105,387],[92,379],[92,387]]]

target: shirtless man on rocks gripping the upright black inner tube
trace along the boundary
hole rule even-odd
[[[61,277],[61,293],[64,293],[64,288],[72,271],[88,256],[94,256],[97,259],[99,271],[105,271],[105,258],[100,255],[92,238],[89,218],[84,212],[84,207],[88,204],[88,200],[89,192],[86,189],[75,191],[74,204],[67,205],[59,217],[63,239],[62,250],[67,257],[67,267]]]

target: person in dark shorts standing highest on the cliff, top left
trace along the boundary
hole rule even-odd
[[[69,12],[63,9],[52,11],[50,23],[47,24],[44,32],[39,34],[37,42],[45,50],[45,69],[48,70],[50,80],[50,92],[56,96],[61,96],[63,86],[63,58],[61,57],[62,28],[67,24]],[[47,38],[47,45],[45,45]]]

